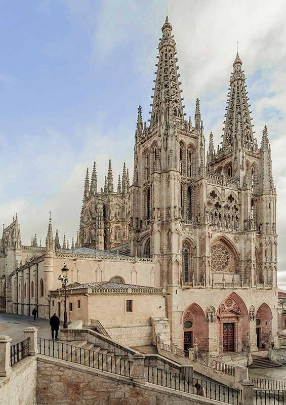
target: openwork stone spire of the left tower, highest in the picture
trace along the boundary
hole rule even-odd
[[[166,18],[162,26],[162,38],[159,43],[159,61],[156,72],[154,101],[151,112],[151,125],[163,123],[169,119],[184,119],[180,82],[176,66],[176,43],[172,36],[172,25]]]

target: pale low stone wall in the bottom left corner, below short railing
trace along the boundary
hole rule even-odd
[[[35,405],[36,373],[36,356],[25,357],[13,366],[9,376],[0,377],[0,403]]]

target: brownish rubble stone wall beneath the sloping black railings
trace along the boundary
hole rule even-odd
[[[37,405],[220,405],[221,402],[37,356]]]

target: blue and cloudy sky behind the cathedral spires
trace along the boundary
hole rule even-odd
[[[278,284],[286,288],[286,2],[273,0],[9,0],[0,5],[0,223],[15,212],[22,243],[54,233],[71,243],[86,169],[98,186],[133,172],[138,105],[149,118],[158,39],[168,8],[184,111],[195,99],[208,144],[221,142],[238,51],[255,137],[264,125],[277,187]]]

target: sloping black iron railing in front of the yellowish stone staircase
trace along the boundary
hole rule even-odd
[[[55,342],[53,340],[43,338],[37,338],[37,340],[39,354],[93,367],[94,369],[119,374],[121,376],[131,376],[131,362],[127,359],[62,342]]]

